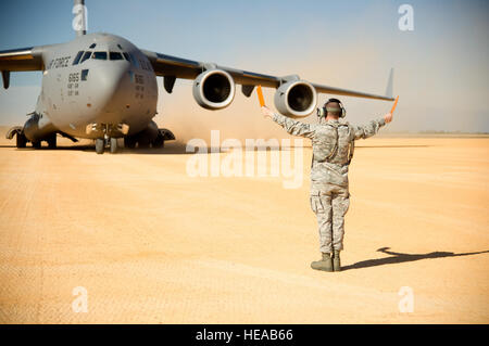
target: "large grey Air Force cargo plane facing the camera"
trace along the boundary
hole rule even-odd
[[[75,0],[84,8],[84,0]],[[236,85],[250,97],[255,86],[277,89],[275,106],[289,117],[304,117],[314,112],[317,92],[393,101],[392,72],[385,95],[339,89],[302,80],[297,75],[276,77],[202,63],[137,48],[128,40],[110,34],[77,30],[66,43],[0,51],[3,87],[9,88],[10,73],[42,72],[41,93],[35,111],[24,126],[11,128],[8,139],[16,136],[16,146],[30,142],[40,148],[47,141],[57,146],[57,134],[77,141],[93,139],[96,152],[106,146],[117,151],[117,138],[126,148],[161,148],[175,136],[159,129],[156,115],[156,77],[172,93],[177,78],[193,79],[193,98],[208,110],[227,107],[235,98]]]

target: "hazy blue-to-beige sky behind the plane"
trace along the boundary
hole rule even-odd
[[[414,9],[402,31],[401,4]],[[489,131],[489,1],[87,0],[88,31],[123,36],[142,49],[274,75],[384,93],[394,67],[400,94],[391,130]],[[71,0],[1,3],[0,50],[65,42]],[[41,73],[13,73],[0,90],[0,124],[21,125],[34,111]],[[195,104],[190,81],[162,91],[158,123],[240,121],[259,112],[255,95],[237,93],[221,112]],[[272,104],[273,92],[266,92]],[[327,95],[319,95],[324,102]],[[352,123],[390,102],[342,98]],[[184,112],[187,117],[178,118]],[[197,119],[199,118],[199,119]],[[180,119],[180,120],[179,120]],[[230,121],[230,120],[228,120]]]

